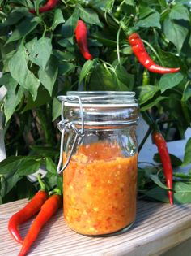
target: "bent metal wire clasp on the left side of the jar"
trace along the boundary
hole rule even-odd
[[[72,154],[74,152],[74,146],[76,145],[76,142],[78,141],[78,144],[80,144],[80,142],[82,141],[82,138],[84,137],[84,119],[83,119],[83,104],[79,96],[60,96],[58,97],[58,99],[62,101],[62,114],[61,114],[62,118],[61,118],[61,121],[57,124],[57,128],[61,132],[60,158],[57,164],[57,173],[61,174],[62,171],[64,171],[68,166],[68,164],[70,163],[70,158],[72,157]],[[76,128],[74,121],[69,122],[67,119],[64,118],[65,102],[72,102],[75,99],[78,99],[79,108],[80,108],[81,128],[79,129]],[[74,131],[75,133],[74,142],[71,147],[70,154],[66,159],[66,163],[62,163],[65,132],[70,132],[70,131]]]

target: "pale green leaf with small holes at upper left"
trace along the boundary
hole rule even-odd
[[[51,39],[49,37],[41,37],[37,40],[35,37],[26,44],[26,48],[28,49],[28,59],[45,70],[45,66],[52,53]]]

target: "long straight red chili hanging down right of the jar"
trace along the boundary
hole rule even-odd
[[[168,189],[172,189],[172,163],[168,153],[167,143],[160,132],[153,132],[152,134],[155,145],[158,148],[159,156],[163,164],[164,176]],[[173,205],[173,193],[172,190],[168,190],[168,199],[171,205]]]

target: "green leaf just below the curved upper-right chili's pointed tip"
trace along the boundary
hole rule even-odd
[[[184,76],[181,73],[165,74],[161,76],[159,80],[159,89],[161,90],[161,93],[179,85],[183,78]]]

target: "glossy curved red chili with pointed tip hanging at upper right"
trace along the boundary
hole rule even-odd
[[[138,33],[133,33],[129,36],[129,44],[132,47],[135,56],[138,58],[139,63],[142,63],[142,65],[150,72],[166,74],[178,72],[180,70],[180,67],[161,67],[155,64],[155,62],[146,52],[145,46],[143,45],[142,39],[139,37]]]

